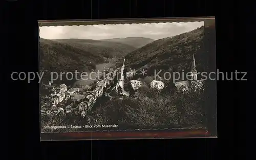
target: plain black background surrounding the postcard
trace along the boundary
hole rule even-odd
[[[92,3],[91,3],[92,2]],[[22,159],[234,159],[245,146],[245,82],[219,81],[218,139],[39,142],[37,80],[11,81],[10,73],[38,71],[37,20],[216,16],[217,68],[245,70],[244,17],[231,1],[5,1],[2,49],[2,137],[8,156]],[[247,10],[248,11],[248,10]],[[247,22],[248,23],[248,22]],[[251,23],[251,21],[249,21]],[[249,30],[243,29],[250,35]],[[6,44],[5,44],[6,43]],[[237,51],[241,52],[237,54]],[[242,52],[243,51],[243,52]],[[242,56],[241,56],[242,55]],[[238,114],[239,112],[239,114]],[[7,116],[7,117],[6,117]],[[239,117],[239,118],[238,118]],[[8,137],[8,139],[6,138]],[[6,152],[7,153],[7,152]],[[241,157],[245,159],[244,157]],[[9,158],[8,158],[9,159]]]

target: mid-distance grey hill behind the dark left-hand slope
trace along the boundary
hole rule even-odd
[[[102,40],[56,39],[53,41],[59,42],[59,43],[67,43],[71,46],[89,51],[95,55],[101,55],[105,58],[123,57],[128,52],[131,52],[136,49],[135,47],[124,44],[124,43],[102,41]]]

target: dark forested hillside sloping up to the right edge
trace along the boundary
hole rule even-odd
[[[146,68],[147,74],[155,69],[190,71],[193,54],[198,70],[204,69],[204,27],[174,37],[156,40],[125,56],[125,64],[131,68]],[[120,64],[119,64],[120,65]]]

